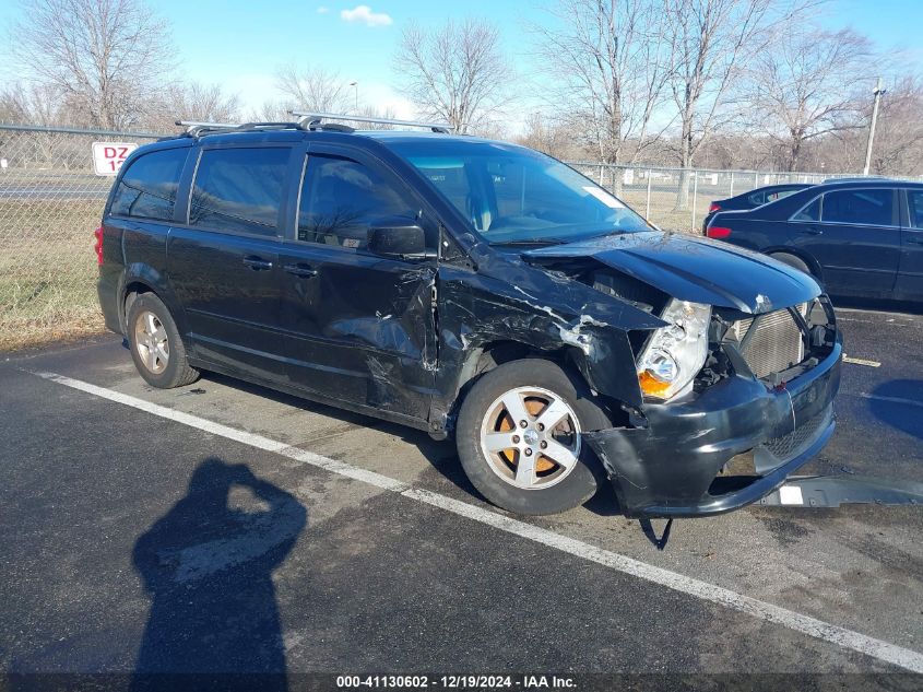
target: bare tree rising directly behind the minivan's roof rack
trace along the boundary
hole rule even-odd
[[[436,31],[411,24],[395,63],[403,92],[425,117],[462,133],[486,126],[508,101],[511,68],[500,50],[499,31],[484,20],[450,20]]]

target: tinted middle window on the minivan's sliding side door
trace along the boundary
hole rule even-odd
[[[192,188],[189,223],[274,235],[288,152],[279,146],[203,151]]]

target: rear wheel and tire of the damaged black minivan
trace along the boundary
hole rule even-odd
[[[134,367],[149,385],[173,389],[199,379],[173,316],[155,294],[142,293],[131,303],[126,327]]]

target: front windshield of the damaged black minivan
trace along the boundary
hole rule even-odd
[[[539,152],[500,142],[389,142],[493,245],[650,231],[620,200]]]

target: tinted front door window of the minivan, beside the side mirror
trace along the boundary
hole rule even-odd
[[[364,248],[376,224],[417,218],[414,204],[377,171],[348,159],[310,155],[301,185],[298,239]]]

